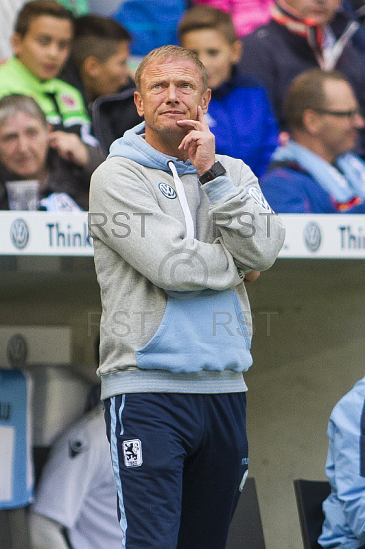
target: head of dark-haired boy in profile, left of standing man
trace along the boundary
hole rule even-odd
[[[78,88],[85,104],[134,87],[128,71],[131,36],[114,19],[84,15],[75,21],[71,57],[60,78]]]

